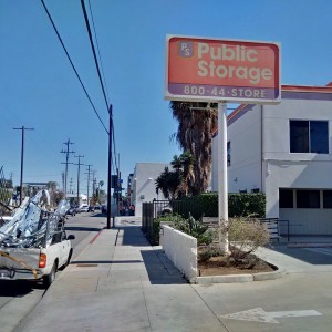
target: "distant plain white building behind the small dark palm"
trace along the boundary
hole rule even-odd
[[[142,204],[154,199],[164,200],[163,193],[156,193],[155,180],[170,164],[137,163],[132,179],[131,201],[135,206],[135,216],[142,216]]]

